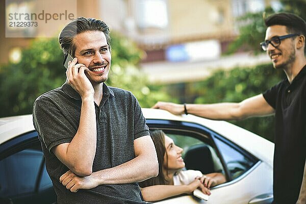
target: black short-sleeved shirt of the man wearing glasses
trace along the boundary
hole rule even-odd
[[[306,158],[306,66],[263,96],[275,109],[274,203],[295,203]]]

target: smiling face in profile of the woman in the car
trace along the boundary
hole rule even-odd
[[[164,155],[164,168],[168,167],[169,171],[176,171],[184,168],[185,163],[182,158],[183,149],[179,146],[176,146],[173,140],[167,135],[165,135],[165,147],[166,152]]]

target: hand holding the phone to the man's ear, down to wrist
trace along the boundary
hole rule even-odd
[[[67,82],[81,95],[82,99],[94,94],[93,86],[85,74],[88,71],[89,69],[84,64],[78,64],[78,58],[73,58],[68,62]]]

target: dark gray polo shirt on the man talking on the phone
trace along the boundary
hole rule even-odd
[[[46,169],[53,182],[58,203],[144,203],[139,186],[101,185],[71,193],[60,182],[68,168],[53,154],[52,148],[71,142],[77,133],[82,100],[67,83],[39,96],[33,107],[33,122],[41,141]],[[123,89],[103,85],[100,106],[95,104],[97,145],[93,172],[118,166],[135,158],[134,140],[149,135],[135,96]],[[80,149],[82,150],[82,149]]]

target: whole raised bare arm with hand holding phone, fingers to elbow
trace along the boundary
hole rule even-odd
[[[78,63],[78,58],[68,62],[67,83],[82,98],[80,122],[71,142],[55,146],[55,156],[72,172],[79,176],[89,176],[96,151],[96,115],[94,106],[94,89],[86,76],[88,68]]]

